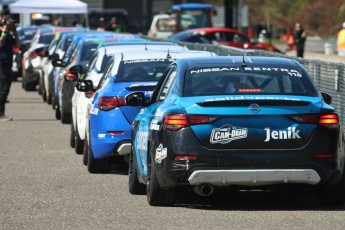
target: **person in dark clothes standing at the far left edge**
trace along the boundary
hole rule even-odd
[[[5,104],[12,83],[13,47],[20,47],[14,20],[0,13],[0,122],[10,121],[5,116]]]

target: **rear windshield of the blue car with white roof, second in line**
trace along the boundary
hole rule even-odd
[[[172,61],[172,59],[123,61],[116,82],[158,81]]]

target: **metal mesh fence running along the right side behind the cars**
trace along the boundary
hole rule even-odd
[[[307,69],[318,89],[332,96],[332,106],[337,110],[341,125],[344,127],[343,131],[345,131],[345,64],[302,59],[263,50],[242,50],[212,44],[173,42],[191,50],[210,51],[220,56],[242,56],[243,52],[245,52],[246,56],[284,57],[300,62]]]

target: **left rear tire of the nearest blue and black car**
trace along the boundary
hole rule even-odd
[[[162,189],[158,183],[155,163],[154,160],[151,159],[151,163],[149,166],[149,175],[147,186],[146,186],[146,194],[147,194],[147,202],[151,206],[171,206],[174,204],[175,201],[175,190],[174,188],[170,189]]]

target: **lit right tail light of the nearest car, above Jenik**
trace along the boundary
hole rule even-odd
[[[299,123],[325,124],[325,125],[339,124],[339,116],[336,113],[305,114],[305,115],[300,115],[300,116],[293,116],[293,119]]]

